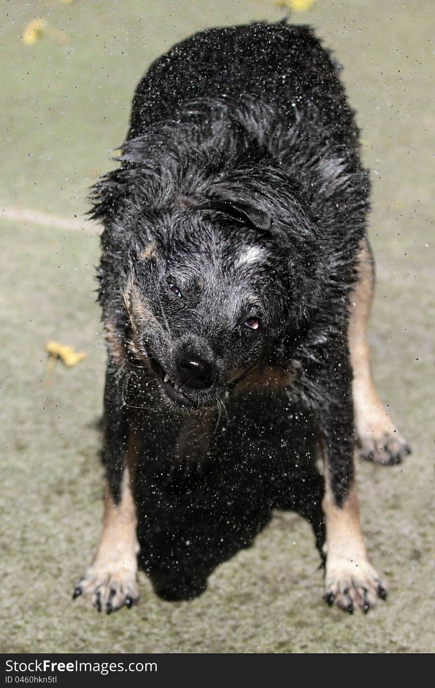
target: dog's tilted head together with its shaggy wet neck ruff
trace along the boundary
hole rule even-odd
[[[283,341],[297,346],[328,270],[339,272],[318,228],[347,183],[341,167],[325,171],[318,127],[302,147],[314,147],[308,165],[300,122],[285,131],[250,102],[204,107],[127,142],[93,195],[104,318],[185,408],[219,401]]]

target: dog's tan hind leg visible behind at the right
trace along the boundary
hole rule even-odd
[[[367,323],[374,290],[374,265],[367,239],[361,241],[357,270],[357,284],[350,297],[348,342],[359,455],[379,464],[397,464],[410,453],[410,447],[395,429],[372,380]]]

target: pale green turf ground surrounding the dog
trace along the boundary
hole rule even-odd
[[[38,16],[70,42],[23,45],[25,24]],[[87,187],[125,135],[146,65],[205,26],[280,16],[263,0],[3,2],[1,206],[81,217]],[[141,574],[135,610],[106,617],[72,603],[102,513],[98,236],[2,219],[3,652],[434,651],[430,3],[318,0],[296,18],[313,23],[345,65],[373,171],[375,378],[414,450],[403,466],[359,465],[364,531],[388,602],[368,616],[326,608],[309,527],[279,514],[195,601],[162,602]],[[48,339],[87,358],[47,378]]]

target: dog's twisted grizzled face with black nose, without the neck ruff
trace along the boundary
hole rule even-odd
[[[274,240],[207,211],[150,219],[124,290],[130,346],[181,407],[216,404],[262,361],[285,320]]]

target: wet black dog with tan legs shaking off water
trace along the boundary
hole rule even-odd
[[[172,468],[201,465],[216,409],[262,389],[313,418],[327,601],[368,610],[386,595],[359,526],[353,456],[357,440],[383,463],[407,447],[370,378],[369,181],[338,72],[309,28],[256,23],[192,36],[137,87],[120,168],[93,197],[108,481],[76,595],[100,609],[138,596],[132,482],[137,458],[153,460],[150,418],[173,418],[169,436],[161,427]]]

